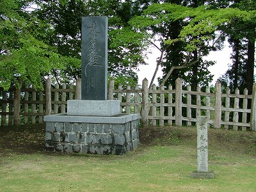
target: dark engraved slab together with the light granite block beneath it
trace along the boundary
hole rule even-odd
[[[107,100],[108,17],[82,17],[82,100],[68,100],[68,115],[111,116],[118,100]]]

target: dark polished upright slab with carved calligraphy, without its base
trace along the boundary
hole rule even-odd
[[[82,100],[107,100],[108,17],[82,17]]]

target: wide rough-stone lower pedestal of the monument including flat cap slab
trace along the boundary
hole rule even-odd
[[[74,118],[77,117],[77,118]],[[140,115],[44,116],[45,150],[122,155],[137,148]]]

